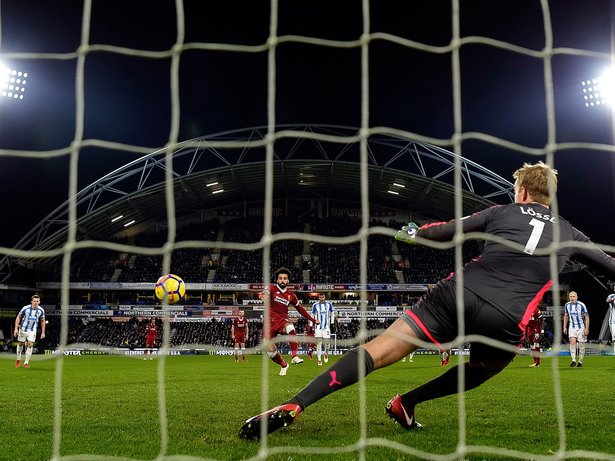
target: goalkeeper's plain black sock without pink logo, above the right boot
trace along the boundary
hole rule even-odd
[[[471,366],[466,362],[465,366],[466,390],[474,389],[487,380],[487,371],[482,364]],[[416,404],[426,400],[456,394],[458,372],[459,365],[453,366],[453,368],[442,373],[437,378],[405,393],[402,395],[403,406],[406,408],[414,408]]]

